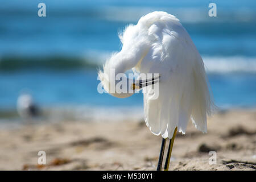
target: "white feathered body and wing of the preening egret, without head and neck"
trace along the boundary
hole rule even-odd
[[[155,135],[172,138],[176,127],[185,134],[192,120],[197,129],[207,132],[213,102],[203,60],[187,31],[175,16],[162,12],[144,16],[138,26],[147,28],[151,42],[139,71],[161,75],[158,99],[144,93],[147,126]]]

